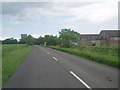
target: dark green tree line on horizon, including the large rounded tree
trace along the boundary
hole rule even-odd
[[[2,44],[28,44],[28,45],[62,45],[63,47],[70,47],[72,42],[78,43],[79,33],[71,29],[62,29],[59,31],[59,37],[53,35],[45,35],[44,37],[40,36],[39,38],[33,38],[31,35],[28,35],[25,38],[17,41],[14,38],[7,38],[2,41]]]

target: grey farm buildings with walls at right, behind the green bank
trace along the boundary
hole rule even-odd
[[[102,30],[99,34],[80,34],[80,45],[118,46],[119,42],[120,30]]]

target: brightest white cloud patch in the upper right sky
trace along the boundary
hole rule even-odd
[[[71,8],[71,12],[75,17],[68,22],[90,22],[100,24],[106,21],[116,19],[118,16],[117,2],[94,3],[81,8]]]

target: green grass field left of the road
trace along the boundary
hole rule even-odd
[[[20,44],[2,45],[2,84],[16,71],[31,49],[31,46]]]

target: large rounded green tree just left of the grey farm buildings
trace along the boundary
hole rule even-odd
[[[62,29],[59,31],[59,38],[64,47],[70,47],[72,42],[78,42],[79,33],[71,29]]]

